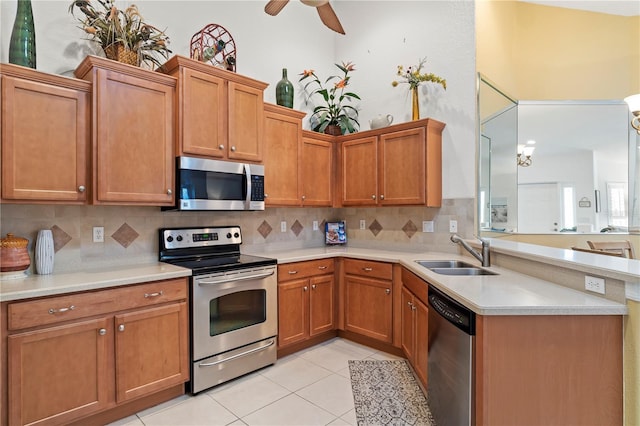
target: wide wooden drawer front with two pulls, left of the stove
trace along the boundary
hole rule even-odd
[[[177,278],[11,303],[8,306],[8,329],[56,324],[186,298],[186,279]]]

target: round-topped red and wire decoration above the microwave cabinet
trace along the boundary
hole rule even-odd
[[[191,59],[236,71],[236,44],[223,26],[209,24],[191,37]]]

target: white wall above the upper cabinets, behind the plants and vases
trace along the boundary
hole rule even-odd
[[[94,2],[96,0],[93,0]],[[131,2],[118,1],[121,8]],[[268,82],[265,101],[275,103],[275,84],[287,68],[294,83],[294,108],[305,106],[298,74],[315,69],[321,78],[339,72],[336,62],[352,61],[352,90],[361,98],[361,130],[379,113],[395,123],[409,121],[406,86],[391,87],[399,64],[427,57],[427,71],[447,79],[446,92],[425,85],[421,117],[447,124],[443,136],[443,197],[475,195],[475,22],[472,1],[355,1],[332,4],[346,35],[327,29],[311,7],[291,1],[276,17],[264,1],[134,2],[150,24],[166,28],[174,54],[189,55],[193,34],[216,23],[234,37],[240,74]],[[70,0],[32,0],[36,26],[37,69],[62,74],[73,70],[92,45],[68,12]],[[16,1],[0,1],[0,60],[8,61],[8,43]],[[308,123],[305,120],[305,127]]]

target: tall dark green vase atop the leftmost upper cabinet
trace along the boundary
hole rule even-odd
[[[36,68],[36,31],[33,25],[31,0],[18,0],[16,20],[9,42],[9,62]]]

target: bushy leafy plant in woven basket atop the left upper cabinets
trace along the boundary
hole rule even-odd
[[[76,9],[84,14],[78,17],[81,28],[102,47],[107,58],[131,65],[146,64],[152,69],[169,58],[169,37],[145,23],[135,5],[120,10],[115,0],[74,0],[69,12],[75,16]]]

